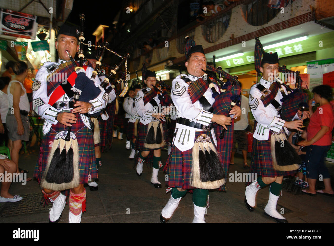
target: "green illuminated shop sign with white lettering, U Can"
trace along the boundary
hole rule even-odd
[[[308,37],[306,40],[297,41],[295,43],[278,46],[274,48],[265,49],[265,52],[275,53],[277,52],[279,58],[295,56],[298,54],[313,52],[321,49],[327,49],[333,47],[334,43],[332,42],[333,32],[328,32],[321,35],[316,35]],[[264,45],[264,48],[266,46]],[[228,48],[225,48],[228,49]],[[216,58],[217,59],[217,58]],[[219,59],[219,58],[218,58]],[[232,68],[241,65],[247,65],[254,63],[254,50],[244,52],[242,56],[234,57],[224,61],[217,62],[217,66],[222,68]]]

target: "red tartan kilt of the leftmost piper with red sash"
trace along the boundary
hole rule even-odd
[[[95,161],[95,151],[94,151],[94,139],[92,130],[88,129],[82,122],[79,114],[76,114],[78,119],[75,124],[72,124],[71,132],[73,132],[78,141],[79,149],[79,173],[80,173],[80,184],[85,184],[88,178],[98,178],[98,172]],[[82,128],[82,129],[81,129]],[[53,130],[54,131],[53,131]],[[50,142],[53,143],[54,138],[58,132],[67,131],[68,127],[60,124],[52,125],[48,134],[43,137],[39,157],[35,167],[35,172],[33,177],[36,177],[38,182],[40,182],[43,172],[47,165],[47,158],[51,151]],[[91,176],[89,176],[91,175]]]

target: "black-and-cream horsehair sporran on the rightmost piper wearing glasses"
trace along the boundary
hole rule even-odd
[[[272,132],[270,143],[274,169],[278,171],[293,171],[299,168],[302,160],[288,142],[284,128],[279,133]]]

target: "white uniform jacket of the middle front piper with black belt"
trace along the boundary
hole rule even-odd
[[[205,111],[199,101],[196,101],[195,103],[191,102],[188,94],[189,85],[184,82],[180,76],[185,76],[192,81],[199,79],[198,77],[192,75],[181,74],[176,76],[173,80],[171,98],[177,109],[177,117],[186,118],[208,126],[213,117],[213,113]],[[219,91],[218,86],[215,85],[215,88],[216,91]],[[210,88],[205,91],[204,96],[211,105],[214,103],[214,98],[212,97],[212,91]],[[180,151],[186,151],[194,146],[196,131],[202,131],[202,129],[192,128],[176,123],[175,131],[177,131],[173,140],[175,147],[177,147]],[[213,136],[213,142],[217,146],[213,129],[211,130],[211,133]]]

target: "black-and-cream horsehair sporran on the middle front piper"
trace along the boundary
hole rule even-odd
[[[210,137],[198,136],[192,149],[191,186],[217,189],[225,183],[225,172]]]

